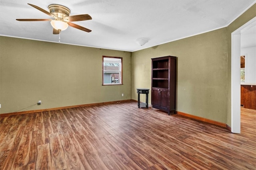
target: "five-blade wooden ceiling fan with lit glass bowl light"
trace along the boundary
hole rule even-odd
[[[76,25],[71,21],[84,21],[84,20],[92,20],[92,17],[89,14],[81,14],[75,16],[69,16],[70,10],[66,6],[58,5],[58,4],[51,4],[48,6],[50,12],[35,6],[33,4],[28,4],[41,12],[44,12],[48,16],[51,16],[52,19],[16,19],[17,21],[51,21],[51,25],[53,27],[53,34],[60,34],[60,31],[63,31],[70,27],[74,27],[80,29],[82,31],[91,32],[92,30],[82,27],[80,25]]]

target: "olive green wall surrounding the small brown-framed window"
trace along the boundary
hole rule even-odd
[[[130,52],[2,36],[0,47],[0,113],[131,99]],[[102,86],[103,55],[123,57],[123,85]]]

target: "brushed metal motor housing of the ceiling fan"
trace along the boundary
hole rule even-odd
[[[50,13],[56,16],[58,19],[63,20],[64,17],[68,17],[70,14],[70,9],[66,6],[51,4],[48,6]]]

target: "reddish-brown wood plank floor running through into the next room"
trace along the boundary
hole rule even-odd
[[[0,170],[255,170],[255,129],[256,110],[232,134],[136,102],[2,116]]]

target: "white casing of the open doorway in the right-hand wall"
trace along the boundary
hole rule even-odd
[[[231,33],[231,131],[240,133],[240,50],[241,33],[256,25],[256,17]]]

